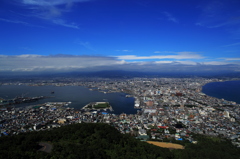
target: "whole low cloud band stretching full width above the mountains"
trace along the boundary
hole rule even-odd
[[[134,58],[137,56],[131,55]],[[186,54],[179,54],[186,58]],[[188,55],[190,56],[190,55]],[[132,58],[133,58],[132,57]],[[178,58],[180,58],[178,57]],[[0,55],[0,72],[68,72],[68,71],[101,71],[125,70],[146,72],[198,72],[198,71],[236,71],[240,70],[239,62],[208,61],[197,63],[191,60],[163,60],[127,62],[116,57],[77,56],[77,55]]]

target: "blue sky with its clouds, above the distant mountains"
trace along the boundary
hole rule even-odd
[[[2,0],[0,71],[240,71],[239,0]]]

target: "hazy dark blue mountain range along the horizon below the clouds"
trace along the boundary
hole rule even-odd
[[[42,73],[6,73],[0,74],[1,79],[9,78],[53,78],[53,77],[101,77],[101,78],[134,78],[134,77],[172,77],[172,78],[191,78],[191,77],[240,77],[239,72],[136,72],[136,71],[122,71],[122,70],[107,70],[107,71],[96,71],[96,72],[42,72]]]

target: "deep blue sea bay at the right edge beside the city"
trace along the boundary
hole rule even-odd
[[[240,81],[208,83],[203,86],[202,92],[212,97],[240,104]]]

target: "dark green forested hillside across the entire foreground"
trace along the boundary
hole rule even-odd
[[[229,141],[196,135],[198,144],[185,149],[167,149],[119,133],[107,124],[74,124],[53,130],[0,138],[0,158],[147,158],[147,159],[239,159],[240,151]],[[50,153],[39,151],[39,142],[53,146]]]

